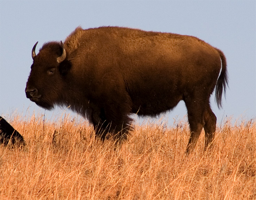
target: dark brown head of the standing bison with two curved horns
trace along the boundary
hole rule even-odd
[[[37,42],[38,43],[38,42]],[[59,94],[64,89],[64,79],[71,67],[61,41],[48,42],[36,55],[37,43],[32,49],[33,64],[26,84],[26,97],[40,107],[52,109],[59,103]]]

